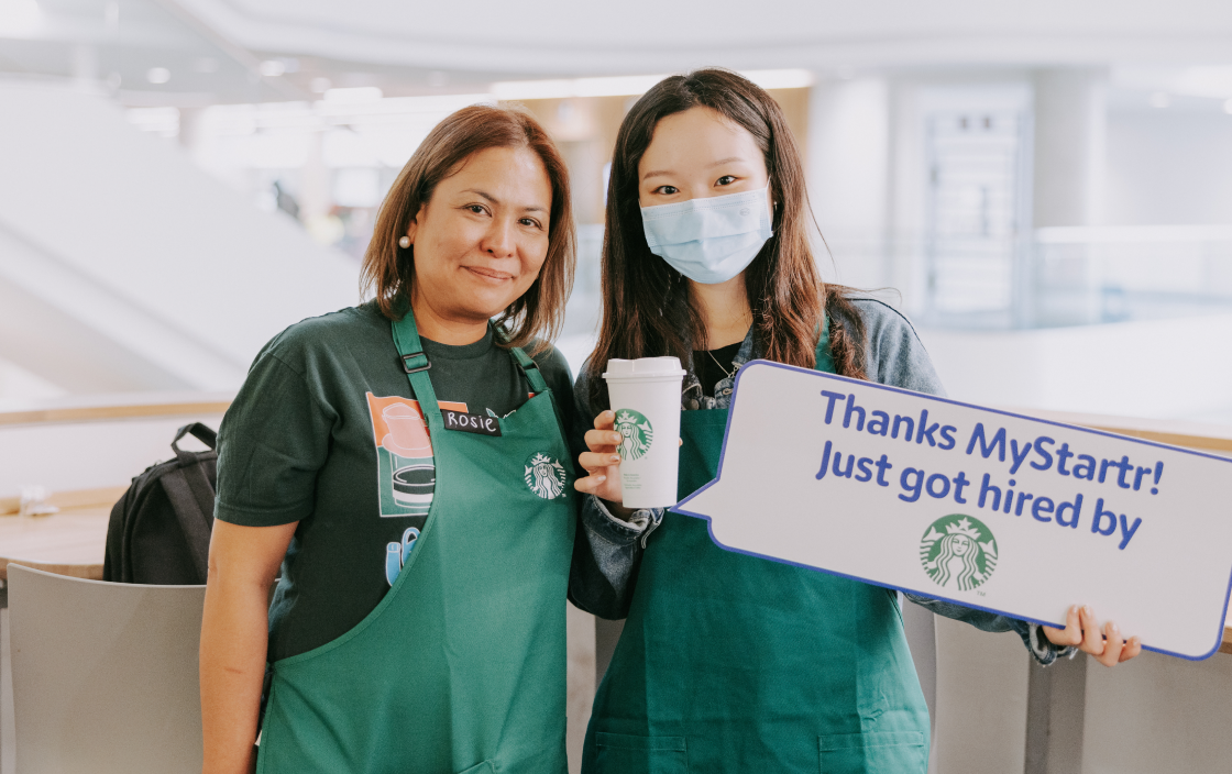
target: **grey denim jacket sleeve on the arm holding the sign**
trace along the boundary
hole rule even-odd
[[[892,306],[871,298],[853,298],[865,327],[865,370],[870,381],[888,384],[917,393],[944,397],[945,389],[933,369],[924,345],[915,329]],[[1042,664],[1056,661],[1058,655],[1069,655],[1073,648],[1063,648],[1048,642],[1042,629],[1027,621],[986,613],[971,608],[929,599],[917,594],[904,594],[938,615],[971,624],[983,631],[1014,631],[1031,655]]]

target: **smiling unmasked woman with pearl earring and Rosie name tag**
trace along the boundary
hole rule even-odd
[[[376,298],[257,356],[218,437],[205,772],[564,773],[578,495],[543,341],[573,266],[556,145],[468,107],[382,204]]]

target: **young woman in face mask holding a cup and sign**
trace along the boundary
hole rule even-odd
[[[713,479],[734,377],[753,358],[941,394],[904,317],[821,282],[809,223],[795,139],[748,80],[673,76],[625,118],[607,194],[602,325],[575,386],[582,416],[596,420],[579,458],[589,475],[577,489],[593,496],[570,594],[628,620],[595,698],[584,772],[928,767],[928,710],[894,592],[723,551],[700,519],[620,505],[620,434],[599,377],[610,358],[687,363],[681,497]],[[1140,650],[1087,609],[1056,630],[913,600],[1016,631],[1042,663],[1076,645],[1106,664]]]

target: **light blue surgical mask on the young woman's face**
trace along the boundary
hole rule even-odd
[[[727,282],[774,235],[768,188],[643,207],[646,244],[694,282]]]

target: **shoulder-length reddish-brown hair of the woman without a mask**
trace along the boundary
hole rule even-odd
[[[415,246],[399,247],[419,208],[432,198],[437,183],[457,172],[467,159],[489,148],[533,150],[552,183],[547,257],[535,283],[496,317],[509,335],[508,347],[538,340],[536,349],[556,337],[564,321],[564,303],[573,289],[577,261],[569,172],[561,151],[543,127],[519,107],[472,105],[445,118],[428,134],[402,167],[377,214],[372,241],[363,255],[360,287],[375,289],[381,313],[391,320],[410,306],[415,277]],[[499,337],[498,337],[499,341]]]

